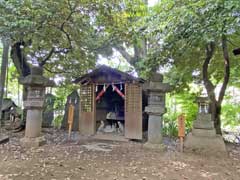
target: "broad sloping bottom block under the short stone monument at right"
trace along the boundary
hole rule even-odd
[[[196,152],[206,155],[227,155],[222,136],[195,136],[190,133],[184,142],[185,152]]]

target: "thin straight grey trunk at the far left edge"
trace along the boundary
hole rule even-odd
[[[2,103],[4,96],[4,87],[6,81],[6,72],[7,72],[7,64],[8,64],[8,52],[10,47],[10,40],[8,38],[2,39],[3,44],[3,54],[2,54],[2,66],[1,66],[1,78],[0,78],[0,118],[2,124]]]

